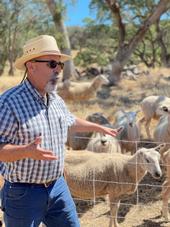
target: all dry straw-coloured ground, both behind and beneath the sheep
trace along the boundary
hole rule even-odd
[[[159,78],[159,75],[161,78]],[[3,79],[4,80],[4,79]],[[11,81],[11,78],[10,78]],[[19,81],[19,79],[18,79]],[[0,85],[8,83],[0,83]],[[9,84],[8,84],[9,86]],[[149,77],[140,77],[137,81],[122,80],[119,86],[105,88],[99,93],[100,98],[91,100],[86,105],[75,102],[68,103],[71,112],[79,117],[85,118],[93,112],[102,112],[109,120],[114,120],[116,110],[124,109],[139,110],[139,103],[149,95],[167,95],[170,97],[170,70],[152,72]],[[7,87],[0,86],[0,91]],[[104,98],[102,98],[102,96]],[[107,97],[107,98],[106,98]],[[139,118],[142,113],[139,112]],[[151,123],[151,132],[156,122]],[[142,129],[143,130],[143,129]],[[142,138],[146,139],[144,130]],[[161,185],[149,175],[140,182],[137,192],[121,200],[118,213],[120,227],[170,227],[170,222],[165,222],[161,217]],[[75,200],[76,201],[76,200]],[[108,227],[109,226],[109,205],[108,202],[100,199],[94,204],[93,201],[76,201],[81,227]],[[2,213],[0,213],[2,218]],[[17,227],[17,226],[16,226]]]

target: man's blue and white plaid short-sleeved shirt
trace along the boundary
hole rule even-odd
[[[64,144],[75,117],[64,101],[50,93],[48,105],[25,80],[0,96],[0,144],[23,145],[42,137],[41,147],[52,150],[58,160],[23,159],[1,163],[0,170],[10,182],[45,183],[63,174]]]

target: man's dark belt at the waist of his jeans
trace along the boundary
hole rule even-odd
[[[5,181],[7,184],[10,184],[11,186],[25,186],[25,187],[45,187],[48,188],[49,186],[52,186],[55,184],[56,180],[49,181],[46,183],[24,183],[24,182],[9,182]]]

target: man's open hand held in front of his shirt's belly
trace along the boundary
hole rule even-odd
[[[34,160],[57,160],[57,156],[50,150],[45,150],[40,147],[41,137],[37,137],[33,142],[26,146],[26,156]]]

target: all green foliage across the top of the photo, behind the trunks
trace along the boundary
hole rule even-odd
[[[117,2],[126,32],[123,44],[128,45],[158,0],[117,0]],[[68,4],[76,4],[76,0],[55,0],[55,3],[60,4],[61,16],[65,18]],[[104,66],[115,58],[118,51],[119,27],[105,0],[91,0],[89,7],[96,15],[96,19],[84,18],[83,27],[68,28],[71,47],[78,51],[75,63],[83,67],[93,63]],[[167,52],[170,53],[170,21],[167,15],[165,14],[164,20],[160,21],[160,28]],[[8,58],[8,51],[12,48],[15,32],[14,60],[16,56],[21,55],[25,41],[36,35],[53,35],[59,47],[61,49],[64,47],[63,36],[58,32],[45,0],[1,0],[0,71]],[[152,63],[154,60],[156,64],[161,63],[161,47],[157,37],[155,26],[151,26],[143,41],[138,44],[135,53],[131,55],[130,61],[141,62],[140,55],[143,54],[147,62]]]

